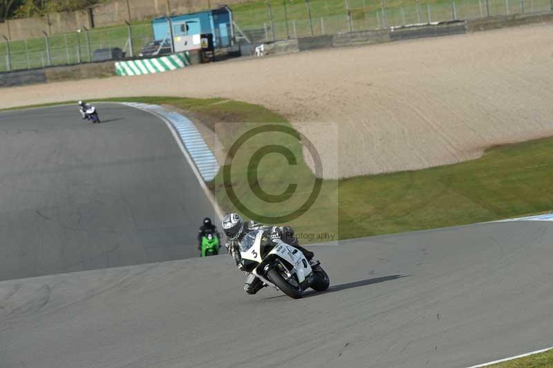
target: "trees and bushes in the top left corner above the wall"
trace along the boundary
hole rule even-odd
[[[0,0],[0,21],[41,17],[48,12],[70,12],[106,0]]]

